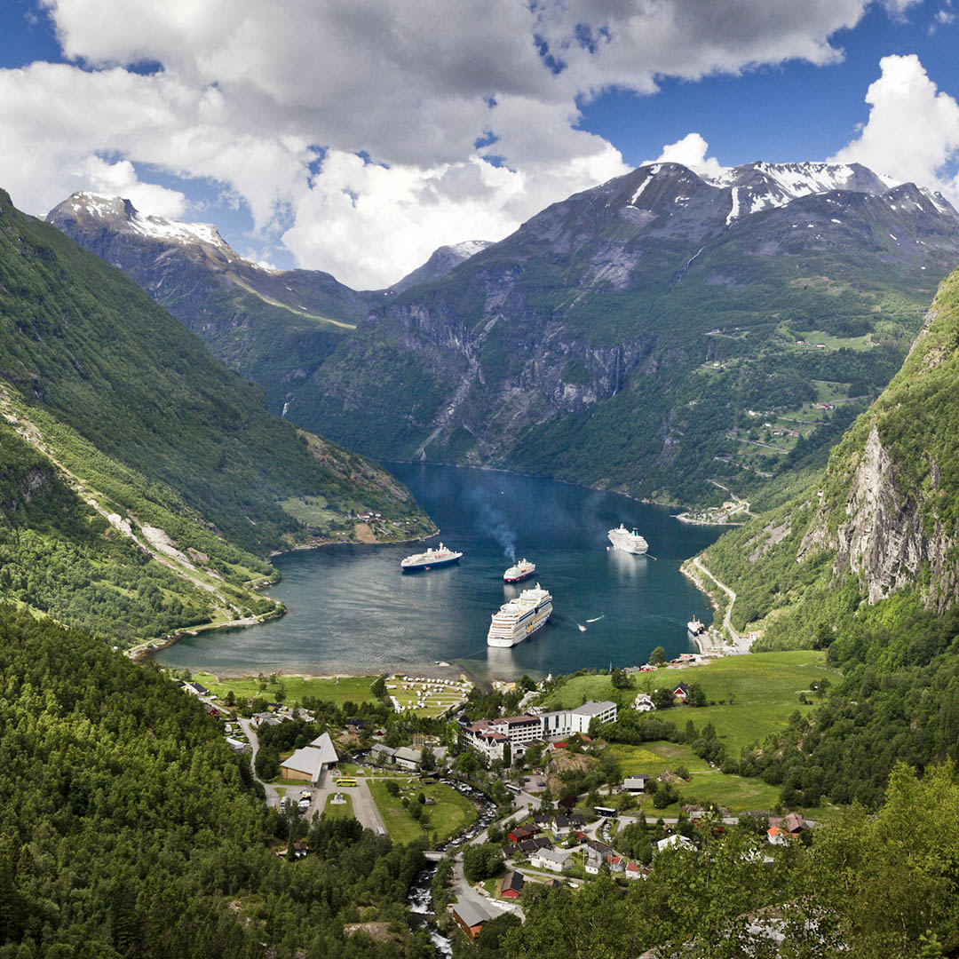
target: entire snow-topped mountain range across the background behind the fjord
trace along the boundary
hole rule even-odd
[[[892,378],[959,261],[946,199],[856,164],[647,165],[380,292],[256,268],[213,228],[120,199],[48,219],[301,427],[673,503],[722,498],[711,480],[782,499],[778,479],[821,466]]]

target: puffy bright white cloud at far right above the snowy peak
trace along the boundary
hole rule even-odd
[[[883,57],[879,69],[879,79],[866,91],[868,121],[831,159],[862,163],[959,202],[959,177],[944,174],[959,155],[959,104],[937,89],[915,54]]]

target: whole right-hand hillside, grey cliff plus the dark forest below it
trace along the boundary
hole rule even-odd
[[[959,271],[891,384],[829,466],[703,553],[755,649],[828,650],[822,707],[738,763],[784,787],[876,806],[894,764],[959,760]]]

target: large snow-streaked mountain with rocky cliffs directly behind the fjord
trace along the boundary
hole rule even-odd
[[[747,415],[802,409],[814,380],[848,396],[885,386],[956,261],[946,200],[863,167],[759,163],[708,180],[655,164],[401,292],[297,402],[379,456],[702,500],[712,477],[741,489],[775,473],[777,456],[744,445]],[[825,330],[865,348],[852,363],[838,344],[817,354],[827,334],[807,344],[806,331]],[[387,394],[406,402],[391,412]],[[370,409],[378,428],[361,422]]]

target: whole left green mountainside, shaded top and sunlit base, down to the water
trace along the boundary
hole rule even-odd
[[[122,273],[3,193],[0,413],[4,595],[117,639],[269,612],[245,588],[271,573],[260,557],[352,539],[350,514],[385,514],[393,538],[432,529],[396,480],[270,416]]]

